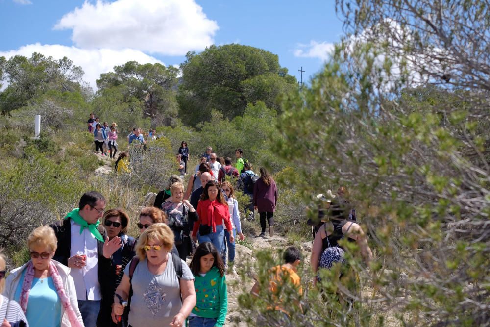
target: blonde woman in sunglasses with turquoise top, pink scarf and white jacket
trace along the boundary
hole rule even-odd
[[[27,238],[31,259],[14,269],[4,294],[19,302],[29,326],[83,326],[70,268],[52,260],[57,248],[54,230],[41,226]]]

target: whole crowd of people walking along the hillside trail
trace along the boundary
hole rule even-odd
[[[97,123],[94,135],[98,141],[98,135],[107,134]],[[128,140],[144,143],[138,129]],[[222,158],[221,164],[207,147],[186,190],[182,178],[189,162],[186,142],[178,152],[181,174],[169,178],[154,206],[140,210],[136,239],[127,235],[130,218],[126,212],[106,210],[106,199],[90,191],[63,220],[32,231],[27,239],[31,259],[6,278],[0,253],[1,327],[223,326],[228,303],[225,275],[237,273],[235,241],[245,239],[235,183],[230,180],[236,178],[236,185],[249,198],[247,219],[253,220],[254,210],[258,211],[259,237],[265,237],[266,223],[270,236],[274,235],[277,186],[266,168],[260,168],[260,176],[253,172],[242,149],[235,151],[232,165],[229,157]],[[311,254],[315,273],[339,262],[325,253],[333,248],[342,251],[344,236],[359,245],[366,261],[372,258],[355,211],[343,197],[345,192],[341,188],[333,199],[319,197],[324,204],[319,208],[322,223],[316,226]],[[189,256],[192,261],[187,265]],[[289,281],[301,296],[297,267],[302,260],[300,250],[289,247],[284,264],[270,269],[270,286],[261,290],[256,283],[251,294],[278,292],[278,284]],[[269,311],[274,319],[286,322],[288,310],[282,304]],[[268,326],[267,320],[260,319],[257,324]]]

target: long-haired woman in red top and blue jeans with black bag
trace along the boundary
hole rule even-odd
[[[211,242],[221,253],[224,244],[224,229],[223,221],[226,230],[233,230],[230,221],[230,211],[228,203],[224,200],[223,192],[221,192],[220,184],[216,180],[209,181],[204,186],[201,199],[197,204],[197,215],[199,219],[194,224],[192,237],[196,242],[199,239],[199,244]],[[230,242],[235,238],[230,235]]]

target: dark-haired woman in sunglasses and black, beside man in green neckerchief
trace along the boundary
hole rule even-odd
[[[119,236],[121,247],[112,254],[112,270],[104,275],[102,289],[102,302],[97,318],[97,326],[117,326],[111,318],[112,305],[114,304],[114,292],[123,278],[123,271],[129,261],[135,256],[135,239],[126,235],[129,226],[129,217],[121,209],[110,209],[104,213],[102,224],[107,231],[109,240]],[[127,321],[128,310],[124,312]]]

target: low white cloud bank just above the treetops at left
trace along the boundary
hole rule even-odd
[[[139,50],[122,49],[80,49],[62,45],[41,45],[39,43],[29,44],[17,50],[0,51],[0,57],[10,58],[15,55],[23,55],[29,58],[32,52],[39,52],[45,56],[61,59],[67,56],[76,66],[81,66],[85,75],[83,80],[87,81],[94,90],[96,89],[96,79],[101,73],[112,71],[114,66],[122,65],[128,61],[135,60],[141,64],[161,63],[158,59],[151,57]],[[5,85],[4,85],[5,86]]]

